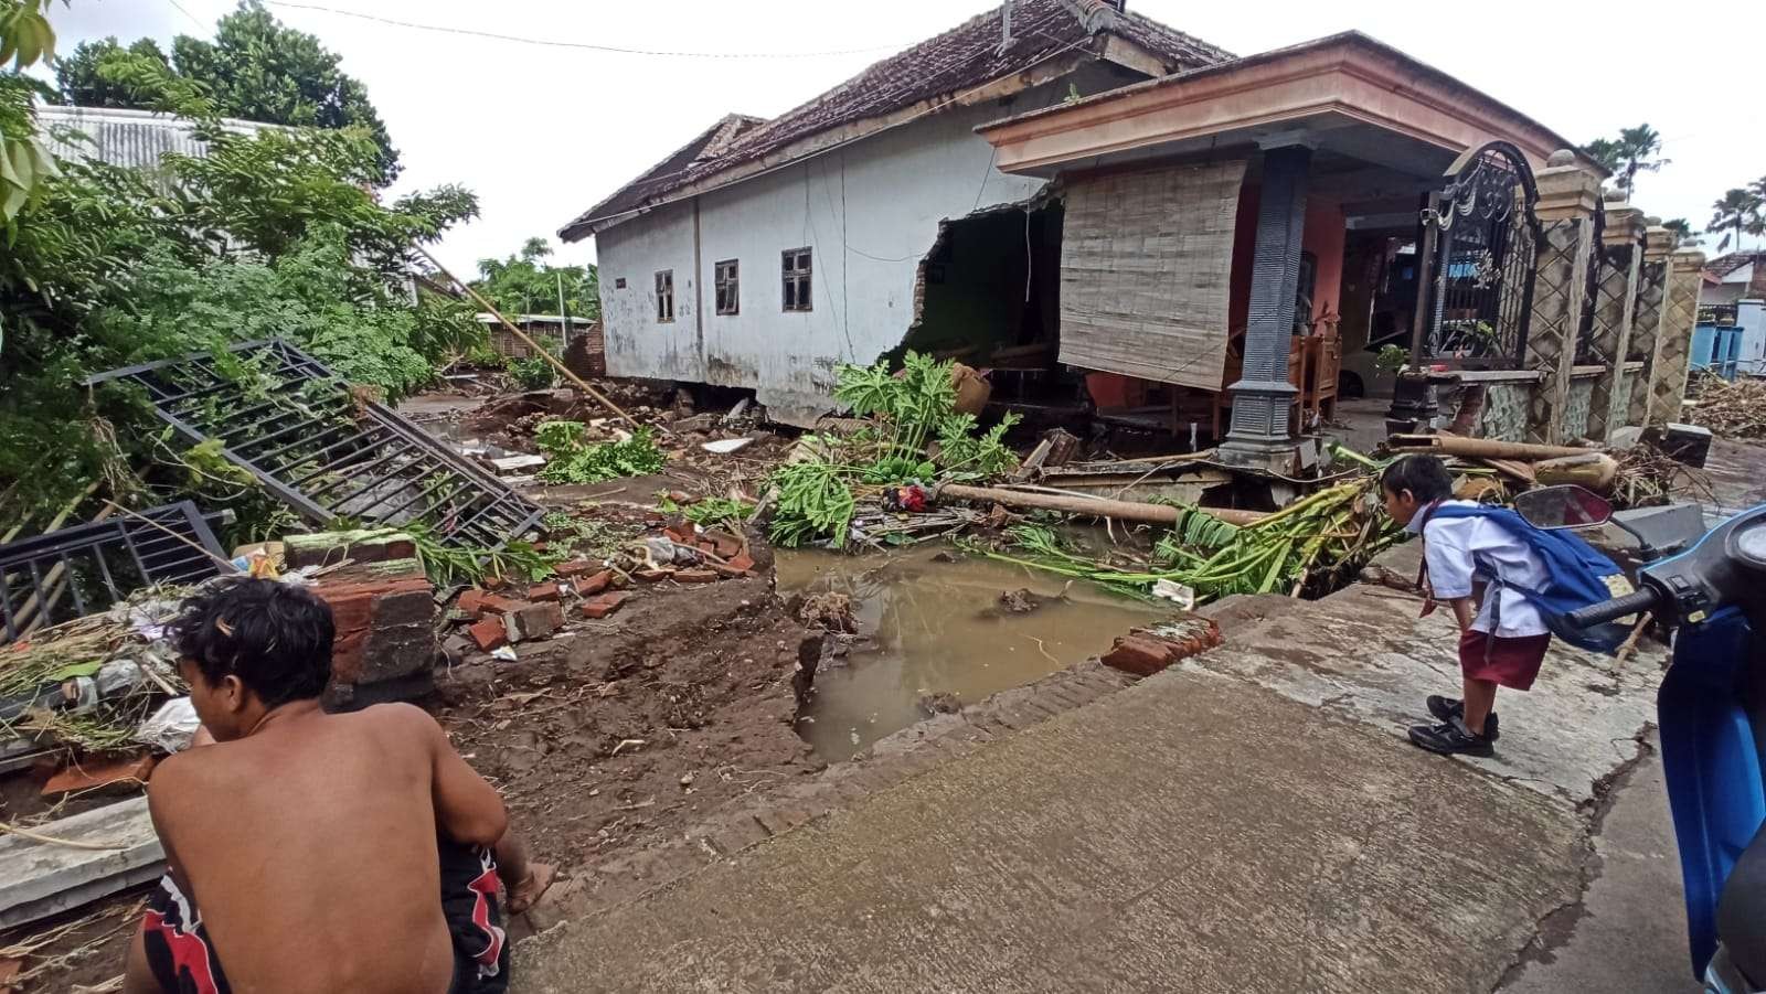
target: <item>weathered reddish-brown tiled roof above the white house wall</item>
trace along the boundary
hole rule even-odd
[[[1167,69],[1194,69],[1226,62],[1231,53],[1134,11],[1118,12],[1106,0],[1017,0],[1012,44],[1001,49],[1001,9],[915,44],[846,83],[768,122],[740,118],[722,131],[724,118],[685,148],[586,210],[560,233],[577,240],[590,226],[636,210],[687,184],[752,162],[795,141],[858,120],[887,115],[934,97],[957,95],[994,79],[1023,72],[1044,60],[1081,48],[1098,34],[1113,34],[1153,53]]]

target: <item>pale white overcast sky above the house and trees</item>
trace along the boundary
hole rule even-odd
[[[306,0],[302,0],[306,4]],[[447,237],[442,260],[470,268],[509,254],[653,166],[729,111],[772,117],[906,44],[994,4],[985,0],[268,0],[367,85],[404,175],[396,192],[461,182],[484,215]],[[231,0],[72,0],[53,23],[78,41],[212,35]],[[1130,0],[1151,18],[1240,55],[1347,28],[1367,32],[1508,102],[1574,141],[1649,122],[1672,164],[1639,182],[1649,214],[1702,228],[1711,201],[1766,175],[1766,129],[1748,87],[1717,87],[1725,30],[1755,32],[1743,2],[1618,7],[1545,0],[1483,4]],[[374,23],[376,18],[615,48],[765,53],[766,58],[622,55]],[[1725,28],[1727,25],[1727,28]],[[857,51],[855,51],[857,49]],[[786,53],[844,53],[784,58]],[[1702,71],[1699,69],[1702,62]],[[1752,76],[1738,41],[1734,72]],[[1724,95],[1727,90],[1727,95]],[[1708,238],[1715,245],[1717,238]],[[1708,249],[1709,251],[1709,249]],[[560,258],[593,261],[593,242]]]

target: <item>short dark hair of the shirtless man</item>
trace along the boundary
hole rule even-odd
[[[267,708],[325,692],[336,636],[328,604],[274,579],[217,583],[187,599],[170,629],[203,680],[238,676]]]

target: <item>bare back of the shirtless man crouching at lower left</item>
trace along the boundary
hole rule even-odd
[[[438,745],[442,729],[417,708],[325,715],[313,703],[154,773],[154,825],[235,990],[449,989]],[[445,759],[461,763],[450,749]],[[500,835],[482,825],[454,839]]]

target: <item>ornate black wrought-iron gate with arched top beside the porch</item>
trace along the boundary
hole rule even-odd
[[[1429,279],[1418,295],[1415,353],[1464,367],[1521,367],[1542,242],[1536,203],[1533,169],[1506,141],[1453,162],[1422,215]]]

